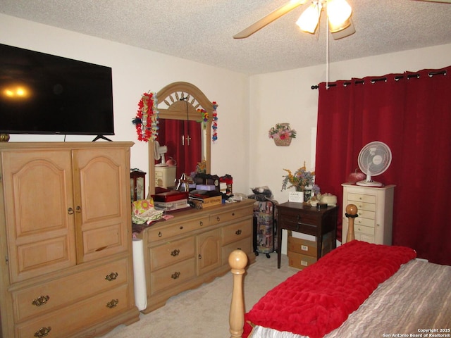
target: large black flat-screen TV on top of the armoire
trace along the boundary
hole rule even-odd
[[[113,135],[111,68],[0,44],[0,132]]]

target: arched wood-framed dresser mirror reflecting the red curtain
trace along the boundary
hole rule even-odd
[[[149,194],[155,187],[171,187],[173,180],[190,175],[200,161],[210,173],[213,103],[194,84],[174,82],[156,93],[159,136],[149,140]],[[204,121],[204,113],[208,117]],[[202,122],[204,121],[204,122]],[[175,163],[175,167],[166,162]]]

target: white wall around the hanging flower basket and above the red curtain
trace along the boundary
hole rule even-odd
[[[328,80],[445,68],[451,65],[450,55],[451,44],[447,44],[331,63]],[[294,172],[306,161],[307,169],[314,170],[315,138],[311,134],[316,130],[318,90],[312,90],[311,85],[325,81],[326,65],[250,78],[249,184],[268,185],[279,203],[288,201],[288,192],[280,191],[282,176],[286,174],[283,168]],[[290,146],[276,146],[268,139],[268,130],[276,123],[285,122],[297,130],[297,137]]]

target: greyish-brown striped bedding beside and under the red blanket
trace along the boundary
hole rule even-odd
[[[324,337],[451,337],[450,330],[451,266],[412,260]],[[249,337],[307,338],[264,327],[255,327]]]

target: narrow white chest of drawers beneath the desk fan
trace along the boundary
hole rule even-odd
[[[361,187],[343,183],[342,243],[346,242],[346,206],[355,204],[359,217],[354,220],[355,239],[375,244],[392,244],[393,197],[395,185]]]

